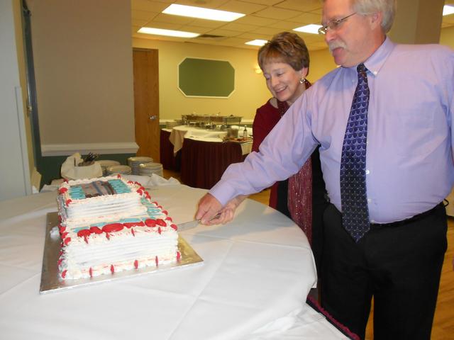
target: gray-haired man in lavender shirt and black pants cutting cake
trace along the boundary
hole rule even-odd
[[[320,147],[331,205],[324,216],[322,306],[361,338],[374,297],[375,339],[430,339],[446,242],[443,198],[454,183],[454,52],[397,45],[386,33],[395,0],[325,0],[325,40],[338,69],[289,108],[260,147],[229,166],[196,218],[230,220],[244,195],[296,173]],[[367,68],[369,231],[342,224],[343,138],[358,64]],[[209,222],[221,212],[220,217]]]

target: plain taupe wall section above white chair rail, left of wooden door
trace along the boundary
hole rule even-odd
[[[27,2],[41,144],[134,142],[131,2]]]

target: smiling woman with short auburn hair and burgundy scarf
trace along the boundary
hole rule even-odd
[[[309,52],[304,40],[295,33],[278,33],[263,45],[258,52],[258,64],[272,98],[255,113],[253,151],[256,152],[289,106],[311,86],[306,80]],[[279,144],[278,140],[273,142]],[[291,217],[305,232],[311,242],[317,269],[320,268],[323,248],[325,194],[319,148],[297,174],[276,182],[270,192],[270,207]]]

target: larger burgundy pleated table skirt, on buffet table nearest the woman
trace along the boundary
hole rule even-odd
[[[241,145],[236,142],[202,142],[184,139],[181,179],[187,186],[209,189],[232,163],[243,162]]]

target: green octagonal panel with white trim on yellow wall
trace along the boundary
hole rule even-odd
[[[224,60],[186,58],[178,65],[184,96],[228,98],[235,91],[235,69]]]

